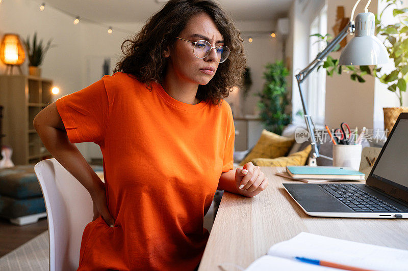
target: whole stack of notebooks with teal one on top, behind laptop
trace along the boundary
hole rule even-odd
[[[303,183],[319,183],[328,180],[365,180],[365,174],[349,167],[287,166],[276,175],[299,180]]]

